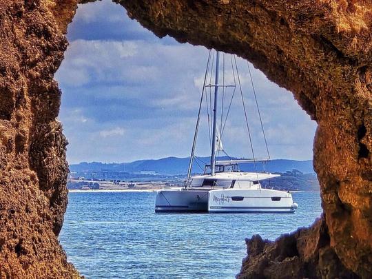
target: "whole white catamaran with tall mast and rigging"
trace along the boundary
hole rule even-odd
[[[211,54],[213,59],[211,61]],[[267,172],[240,172],[240,163],[265,163],[269,161],[268,158],[257,159],[254,158],[254,150],[252,147],[252,159],[236,160],[217,160],[217,153],[223,151],[221,137],[223,129],[218,130],[217,114],[218,114],[218,89],[223,87],[223,90],[227,87],[235,87],[234,85],[225,85],[225,72],[223,76],[223,83],[219,84],[219,68],[220,68],[220,53],[216,52],[216,70],[215,70],[215,82],[214,84],[209,83],[206,85],[207,76],[209,70],[212,74],[212,68],[214,63],[214,52],[209,52],[207,70],[205,72],[205,79],[203,85],[202,96],[200,99],[198,119],[196,121],[196,130],[194,134],[194,143],[192,145],[192,153],[190,156],[189,169],[187,172],[186,185],[182,189],[162,189],[158,191],[156,195],[155,211],[156,212],[282,212],[282,213],[293,213],[297,209],[298,205],[293,203],[292,195],[289,192],[278,191],[273,189],[264,189],[260,185],[261,180],[274,178],[280,176],[279,174],[270,174]],[[210,66],[210,64],[212,64]],[[223,68],[225,70],[225,56],[223,60]],[[238,66],[236,63],[236,57],[231,56],[231,68],[235,76],[238,77],[238,85],[240,93],[242,94],[240,78],[238,76]],[[235,69],[234,69],[235,68]],[[251,74],[249,70],[249,74]],[[252,87],[253,87],[253,81]],[[203,96],[205,94],[206,87],[214,87],[214,108],[213,108],[213,126],[211,127],[211,162],[205,165],[203,175],[191,176],[192,164],[194,158],[196,158],[194,152],[196,147],[196,139],[198,136],[199,122],[200,122],[200,110],[203,103]],[[254,87],[253,87],[254,89]],[[256,99],[256,93],[255,99]],[[232,95],[234,97],[234,94]],[[241,95],[242,96],[242,95]],[[233,98],[232,97],[232,98]],[[232,101],[231,98],[231,101]],[[207,100],[207,98],[205,98]],[[249,133],[249,140],[251,136],[249,132],[249,125],[247,120],[247,112],[245,110],[244,99],[242,96],[242,104],[245,112],[245,120],[247,122],[247,128]],[[257,104],[257,101],[256,101]],[[230,102],[231,105],[231,102]],[[257,105],[258,109],[258,105]],[[227,115],[229,111],[227,112]],[[260,110],[258,109],[260,116]],[[226,116],[227,118],[227,116]],[[261,120],[261,117],[260,117]],[[222,121],[222,117],[221,117]],[[262,121],[261,127],[265,138],[265,132],[263,130]],[[221,122],[222,123],[222,122]],[[222,125],[221,125],[222,127]],[[266,143],[266,138],[265,138]],[[267,145],[266,145],[267,147]]]

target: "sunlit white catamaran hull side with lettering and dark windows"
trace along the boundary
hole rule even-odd
[[[209,192],[211,213],[293,213],[297,208],[291,194],[271,189],[218,189]]]

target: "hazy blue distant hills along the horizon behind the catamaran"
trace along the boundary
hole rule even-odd
[[[226,158],[221,158],[226,159]],[[196,163],[197,162],[197,163]],[[209,157],[202,157],[199,160],[194,161],[193,173],[203,172],[204,163],[209,162]],[[200,167],[198,166],[198,163]],[[141,160],[134,161],[132,163],[79,163],[76,165],[70,165],[71,172],[127,172],[127,173],[156,173],[156,174],[186,174],[189,165],[189,158],[176,158],[167,157],[158,160]],[[257,163],[257,170],[262,171],[264,169],[262,163]],[[241,164],[240,169],[242,171],[254,171],[255,167],[253,163]],[[296,161],[289,159],[275,159],[265,164],[265,171],[267,172],[287,172],[292,169],[298,169],[304,174],[313,174],[313,161]]]

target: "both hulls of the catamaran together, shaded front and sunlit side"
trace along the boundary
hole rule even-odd
[[[294,213],[292,195],[271,189],[161,190],[155,212]]]

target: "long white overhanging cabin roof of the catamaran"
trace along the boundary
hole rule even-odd
[[[260,181],[279,176],[280,174],[270,174],[269,172],[217,172],[214,174],[214,176],[211,174],[203,174],[199,176],[192,176],[192,179]]]

